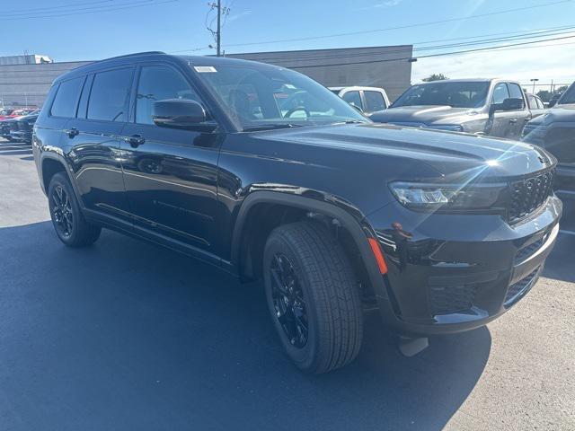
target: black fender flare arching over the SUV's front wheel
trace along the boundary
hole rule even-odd
[[[354,207],[344,209],[343,206],[338,206],[331,202],[316,198],[306,198],[292,193],[261,190],[252,192],[243,200],[235,219],[234,233],[232,236],[231,263],[235,268],[239,268],[243,227],[247,222],[248,214],[252,207],[261,203],[296,207],[337,219],[356,243],[358,251],[361,254],[361,259],[367,270],[367,276],[374,290],[378,295],[385,292],[384,277],[379,272],[376,257],[373,251],[371,251],[367,240],[369,237],[376,238],[376,235],[373,229],[365,222],[364,216],[358,209]],[[352,215],[350,211],[353,211],[356,215]]]

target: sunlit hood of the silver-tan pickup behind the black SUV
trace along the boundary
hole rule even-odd
[[[429,124],[459,124],[477,110],[451,106],[402,106],[380,110],[369,118],[377,123],[393,123],[423,127]],[[413,124],[411,124],[413,123]]]

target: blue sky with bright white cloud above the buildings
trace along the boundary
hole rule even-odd
[[[559,1],[224,0],[231,12],[224,28],[223,45],[226,52],[237,53],[407,44],[570,25],[575,30],[575,1],[564,0],[514,13],[393,31],[265,43],[458,19]],[[3,3],[0,56],[22,54],[26,49],[30,53],[46,54],[57,61],[91,60],[142,50],[181,51],[213,43],[204,25],[208,0],[27,0],[25,3]],[[134,4],[138,7],[132,7]],[[54,8],[50,10],[49,6]],[[93,13],[95,8],[116,10]],[[71,11],[83,13],[31,19],[33,14],[55,15]],[[575,36],[575,32],[569,35]],[[422,58],[413,65],[413,81],[434,72],[450,77],[500,75],[527,82],[529,77],[538,77],[541,83],[551,79],[555,82],[574,80],[575,38],[541,45],[544,46],[488,54]],[[213,50],[189,53],[210,54]]]

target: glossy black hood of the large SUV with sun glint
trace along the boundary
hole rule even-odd
[[[256,132],[254,137],[299,145],[316,145],[342,152],[361,152],[397,159],[420,172],[436,172],[448,180],[466,172],[484,172],[491,178],[523,177],[556,163],[551,154],[535,145],[426,128],[387,124],[349,124]],[[341,157],[347,157],[341,154]],[[425,166],[421,165],[424,164]],[[386,163],[387,165],[389,163]],[[421,169],[417,169],[420,164]],[[404,164],[403,164],[404,166]]]

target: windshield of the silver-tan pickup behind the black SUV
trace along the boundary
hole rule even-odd
[[[485,104],[489,83],[438,82],[413,85],[392,108],[417,105],[447,105],[452,108],[480,108]]]

